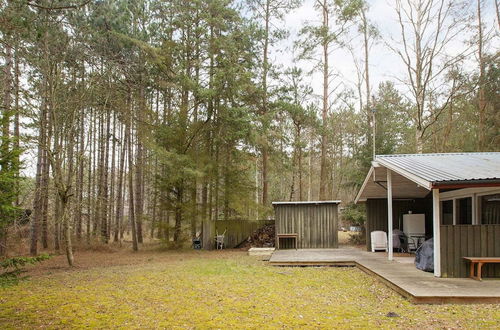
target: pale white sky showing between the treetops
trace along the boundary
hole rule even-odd
[[[475,5],[476,1],[467,0],[469,4]],[[496,33],[496,39],[494,39],[488,45],[488,49],[493,51],[499,51],[500,43],[498,39],[498,24],[496,22],[495,15],[495,7],[494,0],[486,0],[484,1],[483,7],[483,22],[484,25],[492,30],[492,27],[497,27],[496,31],[492,33]],[[281,23],[276,23],[279,27],[284,27],[288,31],[290,31],[290,35],[286,40],[283,40],[278,45],[276,45],[273,49],[273,57],[275,63],[279,65],[283,65],[285,67],[292,65],[293,62],[293,44],[294,41],[298,38],[298,32],[304,26],[304,23],[308,21],[316,21],[319,22],[321,19],[320,13],[314,9],[315,0],[305,0],[303,4],[295,9],[290,11],[284,18],[284,21]],[[402,91],[403,93],[407,92],[406,88],[402,83],[399,83],[395,77],[405,77],[406,71],[405,67],[401,61],[401,59],[387,47],[385,42],[390,42],[392,44],[397,45],[400,37],[400,26],[397,21],[396,12],[394,9],[395,0],[368,0],[369,10],[367,12],[367,17],[369,21],[376,26],[378,29],[381,39],[376,44],[374,44],[371,48],[370,53],[370,80],[372,85],[372,94],[376,87],[380,82],[391,80],[396,84],[396,87]],[[473,13],[475,11],[475,7],[471,8]],[[474,21],[475,24],[475,21]],[[346,38],[356,37],[355,33],[346,36]],[[470,38],[470,36],[463,37]],[[357,55],[360,57],[358,60],[361,60],[363,56],[362,43],[361,39],[358,37],[357,41],[354,42],[354,47],[357,49]],[[464,40],[457,40],[453,44],[451,44],[447,52],[454,53],[459,52],[464,49]],[[466,65],[473,66],[474,61],[468,61]],[[363,62],[360,61],[363,65]],[[333,66],[333,71],[336,73],[340,73],[340,77],[337,81],[332,83],[332,86],[336,86],[339,83],[351,86],[354,88],[356,82],[356,69],[354,66],[354,62],[352,59],[352,55],[346,49],[339,49],[332,53],[330,56],[330,64]],[[308,70],[311,68],[311,65],[304,62],[299,62],[299,66]],[[319,99],[322,93],[322,76],[321,73],[316,72],[311,77],[309,77],[309,82],[313,87],[314,93],[318,96]]]

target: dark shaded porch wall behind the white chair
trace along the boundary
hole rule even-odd
[[[393,200],[392,215],[393,228],[402,227],[403,214],[408,211],[425,214],[426,237],[432,237],[432,201],[428,198],[417,198],[412,200]],[[400,227],[401,223],[401,227]],[[368,199],[366,201],[366,249],[371,249],[370,233],[375,230],[387,231],[387,199]]]

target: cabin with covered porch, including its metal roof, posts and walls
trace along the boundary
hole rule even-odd
[[[467,277],[463,257],[500,257],[499,178],[500,153],[377,156],[355,201],[366,205],[367,249],[370,233],[384,231],[394,260],[391,233],[417,213],[420,236],[433,241],[434,276]],[[485,275],[500,277],[499,265]]]

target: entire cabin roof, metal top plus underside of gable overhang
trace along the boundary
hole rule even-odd
[[[422,198],[433,188],[499,186],[500,152],[376,156],[355,202],[386,198],[387,170],[394,198]]]

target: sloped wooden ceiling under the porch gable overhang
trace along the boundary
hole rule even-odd
[[[404,176],[392,172],[393,198],[423,198],[428,194],[428,189],[422,188]],[[367,176],[357,201],[364,202],[368,198],[387,198],[387,169],[385,167],[371,168],[370,175]]]

